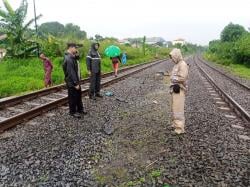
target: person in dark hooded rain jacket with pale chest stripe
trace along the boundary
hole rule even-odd
[[[89,98],[96,100],[96,97],[102,98],[101,90],[101,56],[98,52],[99,43],[93,43],[86,58],[87,69],[90,75]]]

